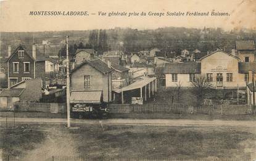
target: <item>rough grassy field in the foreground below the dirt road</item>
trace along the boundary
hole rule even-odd
[[[1,148],[11,160],[52,156],[247,160],[256,131],[233,126],[121,126],[29,124],[4,129]],[[256,157],[256,156],[255,156]]]

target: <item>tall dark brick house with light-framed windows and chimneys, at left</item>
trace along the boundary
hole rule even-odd
[[[23,80],[32,78],[45,78],[45,58],[41,54],[36,54],[36,46],[33,44],[19,44],[12,51],[8,46],[7,58],[7,79],[8,87]],[[44,85],[44,83],[43,83]]]

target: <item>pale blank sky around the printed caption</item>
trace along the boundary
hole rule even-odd
[[[30,15],[30,11],[87,11],[88,16]],[[227,12],[228,16],[170,16],[167,12]],[[145,12],[146,16],[99,16],[99,12]],[[163,12],[164,16],[148,15]],[[6,0],[0,1],[0,31],[93,30],[115,27],[221,27],[256,30],[254,0]]]

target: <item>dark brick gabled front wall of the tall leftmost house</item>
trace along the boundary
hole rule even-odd
[[[14,65],[12,62],[19,62],[19,73],[13,73]],[[24,73],[24,64],[23,62],[30,62],[30,73]],[[34,60],[31,59],[26,51],[24,53],[24,58],[19,59],[18,51],[14,54],[14,56],[9,60],[9,78],[18,78],[18,82],[22,81],[22,77],[30,77],[34,78]]]

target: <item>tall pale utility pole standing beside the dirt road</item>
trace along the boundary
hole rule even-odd
[[[69,78],[69,57],[68,57],[68,36],[66,41],[67,46],[67,128],[70,128],[70,91],[69,91],[69,84],[70,84],[70,78]]]

